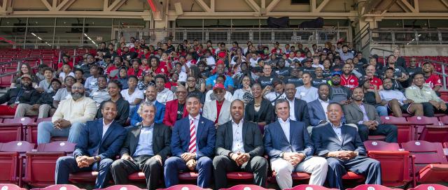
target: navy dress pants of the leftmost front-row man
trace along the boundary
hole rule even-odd
[[[59,157],[56,161],[56,184],[69,184],[70,173],[98,171],[97,180],[95,181],[95,189],[102,189],[107,186],[107,183],[111,179],[112,159],[102,159],[99,163],[92,163],[91,166],[86,168],[79,168],[76,159],[73,156]]]

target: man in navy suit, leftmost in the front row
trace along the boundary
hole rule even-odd
[[[113,121],[117,115],[117,105],[113,101],[103,104],[102,114],[102,119],[87,122],[81,129],[73,156],[57,159],[56,184],[69,184],[70,173],[97,170],[94,188],[106,187],[112,159],[123,145],[126,129]]]

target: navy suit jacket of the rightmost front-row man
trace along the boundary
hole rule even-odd
[[[358,152],[359,156],[365,156],[365,147],[359,137],[358,130],[349,125],[341,126],[342,141],[337,138],[331,124],[313,127],[311,140],[318,156],[325,156],[328,152],[338,150],[350,150]]]

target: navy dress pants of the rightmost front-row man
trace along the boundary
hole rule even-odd
[[[365,184],[381,184],[381,167],[379,161],[366,156],[356,156],[351,160],[328,158],[327,180],[330,188],[344,190],[342,176],[350,170],[365,176]]]

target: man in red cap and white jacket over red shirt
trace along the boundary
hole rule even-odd
[[[215,122],[215,126],[225,124],[230,120],[230,101],[224,98],[225,95],[224,85],[216,83],[213,87],[213,94],[216,97],[216,101],[209,101],[204,105],[202,116]]]

